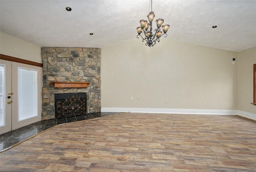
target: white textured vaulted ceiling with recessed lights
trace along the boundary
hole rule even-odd
[[[0,0],[0,10],[4,33],[40,47],[97,48],[137,39],[151,11],[150,0]],[[170,25],[160,39],[237,52],[256,47],[256,0],[153,0],[152,10]]]

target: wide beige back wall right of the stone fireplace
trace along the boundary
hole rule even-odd
[[[144,44],[102,48],[102,108],[238,109],[237,52],[168,38]]]

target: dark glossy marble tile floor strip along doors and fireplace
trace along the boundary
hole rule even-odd
[[[0,152],[5,151],[6,149],[11,148],[13,145],[24,141],[25,139],[28,139],[29,137],[32,137],[50,127],[53,127],[54,125],[114,115],[117,113],[120,112],[96,112],[75,117],[65,117],[59,119],[47,119],[38,121],[36,123],[32,123],[25,127],[21,127],[19,129],[0,135]]]

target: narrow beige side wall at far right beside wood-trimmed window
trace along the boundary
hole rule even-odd
[[[256,64],[256,47],[239,52],[239,103],[238,110],[256,114],[253,106],[253,64]]]

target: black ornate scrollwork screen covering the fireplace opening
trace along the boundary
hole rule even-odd
[[[86,93],[54,94],[56,118],[86,114]]]

